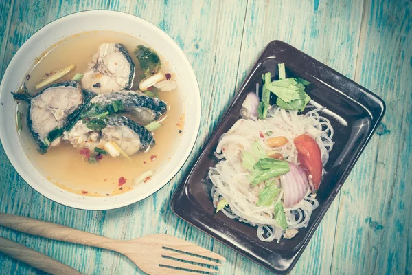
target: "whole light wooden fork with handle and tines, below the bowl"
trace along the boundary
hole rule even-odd
[[[152,234],[130,241],[119,241],[56,223],[2,213],[0,213],[0,225],[47,239],[119,252],[147,274],[193,275],[198,272],[214,274],[220,272],[213,267],[222,265],[220,262],[226,261],[219,254],[166,234]]]

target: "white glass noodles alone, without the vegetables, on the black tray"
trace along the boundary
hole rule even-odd
[[[209,179],[214,184],[211,188],[211,197],[216,208],[218,201],[224,197],[229,207],[221,211],[230,219],[238,219],[244,223],[258,227],[258,238],[262,241],[274,241],[282,238],[284,230],[275,220],[275,203],[282,200],[283,191],[271,206],[256,206],[259,193],[264,183],[252,186],[247,171],[242,166],[242,153],[248,151],[253,142],[260,142],[267,151],[273,150],[266,145],[269,137],[284,136],[290,142],[276,148],[289,162],[297,164],[297,151],[293,140],[298,135],[310,134],[317,141],[321,149],[323,166],[329,159],[329,152],[333,148],[333,128],[330,121],[319,115],[319,109],[313,109],[305,115],[298,115],[297,111],[271,108],[266,120],[238,120],[232,128],[220,138],[216,148],[216,157],[220,160],[215,167],[209,170]],[[261,133],[265,134],[261,137]],[[269,133],[269,135],[267,134]],[[280,187],[278,177],[275,182]],[[306,197],[293,208],[285,208],[287,229],[299,229],[308,225],[312,211],[319,203],[314,195],[308,193]]]

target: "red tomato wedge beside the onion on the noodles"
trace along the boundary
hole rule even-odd
[[[318,190],[322,179],[321,149],[310,135],[299,135],[293,140],[297,149],[297,160],[308,175],[313,190]]]

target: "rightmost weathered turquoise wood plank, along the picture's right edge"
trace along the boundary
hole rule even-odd
[[[365,1],[355,80],[387,113],[342,188],[332,272],[410,274],[411,1]]]

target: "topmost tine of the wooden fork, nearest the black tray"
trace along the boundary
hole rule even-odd
[[[215,252],[211,252],[210,250],[207,250],[206,248],[202,248],[198,245],[195,245],[194,243],[190,243],[190,241],[185,241],[183,239],[177,238],[176,236],[170,236],[170,235],[163,235],[162,236],[163,241],[167,241],[167,243],[170,243],[170,246],[165,246],[166,248],[170,248],[172,250],[179,250],[191,254],[196,254],[199,256],[205,256],[207,258],[219,260],[219,261],[226,261],[225,257],[220,256],[219,254],[216,254]]]

